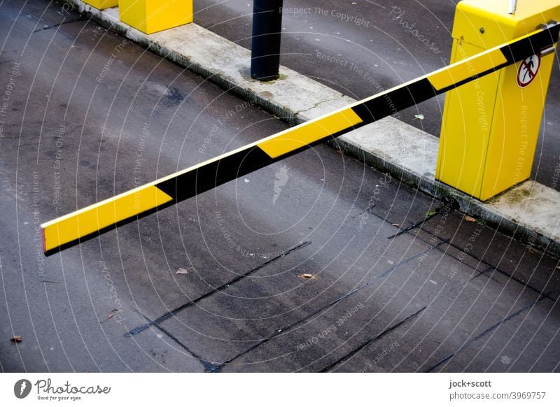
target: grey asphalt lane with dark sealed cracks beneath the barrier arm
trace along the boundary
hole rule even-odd
[[[558,259],[325,145],[43,257],[286,124],[57,3],[0,44],[0,371],[560,371]]]

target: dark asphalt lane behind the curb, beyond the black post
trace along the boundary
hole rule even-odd
[[[456,3],[284,0],[281,64],[355,99],[369,97],[449,64]],[[197,24],[251,48],[252,1],[195,0],[194,4]],[[440,96],[395,117],[439,136],[443,103]],[[556,56],[531,176],[556,190],[560,190],[558,129],[560,61]]]

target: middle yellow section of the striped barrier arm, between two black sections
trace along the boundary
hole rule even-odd
[[[265,138],[258,146],[271,158],[276,158],[361,122],[360,117],[351,108],[347,108]]]

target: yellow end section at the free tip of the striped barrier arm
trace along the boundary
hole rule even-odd
[[[172,201],[172,197],[158,187],[148,184],[94,203],[69,215],[41,224],[43,250],[48,252],[169,201]]]

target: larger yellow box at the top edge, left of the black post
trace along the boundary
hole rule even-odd
[[[193,0],[119,0],[120,21],[146,34],[193,22]]]

